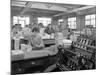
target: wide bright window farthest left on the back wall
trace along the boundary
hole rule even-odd
[[[13,16],[13,25],[21,24],[22,27],[25,25],[29,25],[30,18],[29,17],[20,17],[20,16]]]

